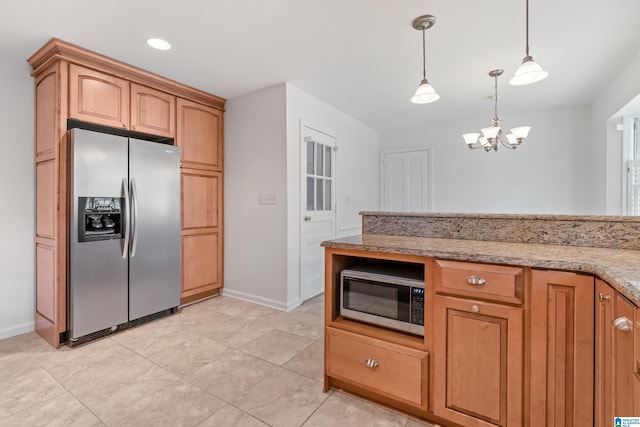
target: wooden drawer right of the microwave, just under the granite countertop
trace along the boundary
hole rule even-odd
[[[436,261],[437,293],[522,304],[524,269],[459,261]]]

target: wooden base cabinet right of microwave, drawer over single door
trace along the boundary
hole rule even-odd
[[[436,260],[434,287],[433,412],[465,426],[522,425],[523,269]]]

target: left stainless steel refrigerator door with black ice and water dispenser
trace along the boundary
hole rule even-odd
[[[83,225],[79,221],[91,220],[84,218],[86,207],[78,204],[79,200],[86,204],[96,197],[123,200],[127,139],[83,129],[73,129],[70,134],[69,332],[75,339],[128,319],[124,239],[81,241],[79,230]],[[125,209],[124,203],[120,208]],[[125,215],[122,212],[122,217]],[[106,228],[103,224],[100,228]],[[125,228],[122,224],[122,235]]]

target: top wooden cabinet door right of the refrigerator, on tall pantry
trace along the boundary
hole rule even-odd
[[[222,170],[222,111],[178,98],[176,145],[182,166]]]

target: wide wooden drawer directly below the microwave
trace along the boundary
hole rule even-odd
[[[426,408],[428,353],[333,328],[326,339],[329,376]]]

